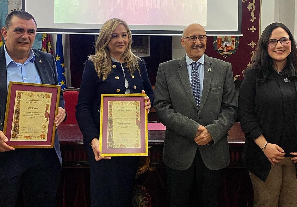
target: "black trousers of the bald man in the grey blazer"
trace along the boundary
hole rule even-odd
[[[197,148],[184,171],[166,168],[170,207],[217,207],[222,170],[209,170]]]

